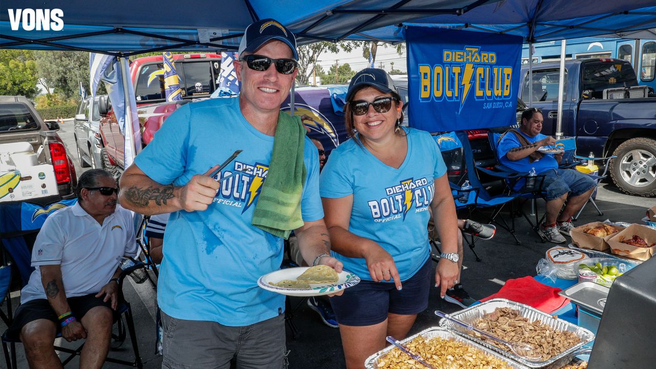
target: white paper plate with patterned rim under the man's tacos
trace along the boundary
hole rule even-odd
[[[356,274],[353,274],[352,272],[342,270],[342,272],[338,274],[339,279],[335,283],[310,284],[311,288],[304,288],[301,290],[282,288],[269,284],[269,282],[277,283],[286,279],[296,280],[300,274],[303,274],[303,272],[308,269],[310,269],[310,267],[287,268],[270,272],[269,274],[261,276],[260,279],[257,280],[257,285],[264,288],[264,290],[282,293],[283,295],[321,296],[344,290],[344,288],[355,286],[360,282],[359,276],[356,276]]]

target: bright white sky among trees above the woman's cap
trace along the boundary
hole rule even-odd
[[[342,65],[348,63],[351,66],[352,70],[359,71],[361,69],[367,68],[369,61],[362,57],[362,50],[354,50],[351,53],[346,53],[345,51],[340,51],[340,53],[321,53],[319,55],[319,64],[323,67],[324,71],[329,70],[331,65],[335,65],[335,61]],[[379,46],[375,67],[380,68],[382,63],[382,68],[386,71],[390,71],[390,62],[394,63],[394,69],[401,70],[402,72],[407,71],[407,64],[405,62],[405,50],[399,56],[396,53],[396,47],[389,45],[387,48]]]

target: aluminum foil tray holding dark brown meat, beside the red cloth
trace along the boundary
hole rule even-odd
[[[579,342],[579,344],[575,345],[574,347],[570,347],[565,352],[550,358],[549,360],[541,361],[541,362],[530,362],[521,357],[518,357],[517,355],[514,355],[514,353],[512,352],[500,349],[495,345],[491,345],[490,343],[487,343],[482,339],[478,339],[468,334],[469,331],[467,330],[467,328],[449,322],[446,319],[440,320],[440,326],[452,330],[454,332],[457,332],[458,334],[467,337],[467,339],[470,339],[480,345],[483,345],[483,347],[487,347],[488,349],[491,349],[492,351],[495,351],[496,353],[499,353],[504,357],[510,358],[511,360],[514,360],[515,362],[518,362],[522,364],[522,366],[526,366],[527,368],[541,368],[541,369],[561,368],[562,366],[567,365],[576,355],[579,355],[579,349],[581,349],[583,345],[586,345],[587,343],[590,343],[591,341],[594,340],[594,334],[592,334],[592,332],[586,330],[585,328],[579,327],[575,324],[571,324],[570,322],[566,322],[565,320],[562,319],[553,318],[551,315],[543,313],[542,311],[534,309],[533,307],[524,305],[522,303],[516,303],[515,301],[510,301],[507,299],[491,299],[489,301],[485,301],[484,303],[480,303],[479,305],[475,305],[473,307],[469,307],[467,309],[458,311],[457,313],[450,314],[449,316],[462,320],[462,322],[466,322],[468,324],[474,324],[476,320],[482,318],[483,315],[485,315],[486,313],[492,313],[493,311],[495,311],[495,309],[497,309],[497,307],[510,307],[511,309],[518,310],[520,312],[520,315],[528,318],[531,321],[540,320],[541,322],[543,322],[544,324],[546,324],[547,326],[549,326],[554,330],[568,330],[570,332],[574,332],[574,334],[576,334],[577,336],[579,336],[579,338],[581,338],[581,342]]]

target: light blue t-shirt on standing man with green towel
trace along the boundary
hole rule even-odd
[[[273,146],[274,137],[241,115],[239,98],[214,98],[176,110],[134,160],[154,181],[182,186],[243,150],[217,177],[247,172],[222,182],[207,210],[171,213],[157,284],[157,303],[168,315],[246,326],[285,310],[285,296],[257,286],[280,268],[283,240],[251,225]],[[302,219],[316,221],[323,218],[319,157],[307,137],[304,163]]]

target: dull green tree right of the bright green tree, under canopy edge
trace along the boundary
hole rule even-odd
[[[37,51],[37,70],[42,85],[66,98],[76,97],[79,82],[89,89],[89,53],[83,51]]]

